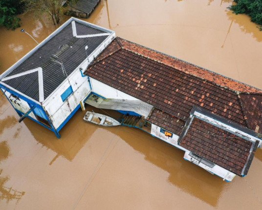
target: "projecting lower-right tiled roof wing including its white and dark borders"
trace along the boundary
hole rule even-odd
[[[198,114],[194,115],[195,112]],[[257,138],[251,141],[256,133],[201,112],[201,109],[192,110],[178,144],[235,174],[246,175],[260,142]]]

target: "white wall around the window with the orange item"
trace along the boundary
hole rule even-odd
[[[160,132],[160,128],[161,128],[161,127],[159,127],[159,126],[156,126],[156,125],[154,125],[154,124],[151,124],[151,134],[152,134],[153,136],[155,136],[155,137],[157,137],[157,138],[159,138],[159,139],[167,142],[168,144],[171,144],[171,145],[174,146],[174,147],[177,147],[177,148],[179,148],[179,149],[182,149],[182,150],[186,151],[185,148],[183,148],[183,147],[181,147],[181,146],[179,146],[179,145],[177,144],[177,140],[178,140],[179,136],[177,136],[177,135],[175,135],[175,134],[173,133],[173,136],[172,136],[172,137],[168,137],[168,136],[166,136],[164,133],[161,133],[161,132]],[[171,133],[171,132],[170,132],[170,133]]]

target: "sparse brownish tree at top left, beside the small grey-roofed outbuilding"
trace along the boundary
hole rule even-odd
[[[58,24],[63,14],[65,0],[23,0],[28,11],[34,11],[37,17],[47,14],[54,25]]]

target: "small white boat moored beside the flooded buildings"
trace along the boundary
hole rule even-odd
[[[93,123],[93,124],[100,125],[100,126],[120,126],[121,125],[117,120],[109,116],[98,114],[98,113],[91,112],[91,111],[87,111],[84,117],[84,120],[89,123]]]

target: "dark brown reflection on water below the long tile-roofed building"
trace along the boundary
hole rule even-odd
[[[127,138],[126,132],[130,132],[132,137]],[[218,206],[218,199],[227,183],[185,161],[182,150],[134,128],[123,127],[118,135],[135,150],[144,154],[146,160],[169,172],[168,181],[171,184],[213,207]]]

